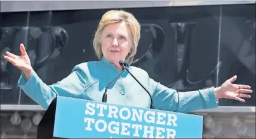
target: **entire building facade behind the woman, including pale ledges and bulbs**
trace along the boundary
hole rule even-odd
[[[48,85],[76,64],[97,60],[91,40],[109,9],[125,9],[142,25],[134,66],[180,92],[217,87],[233,75],[250,85],[246,103],[221,99],[204,116],[204,138],[255,138],[255,1],[1,1],[1,138],[36,138],[44,114],[3,59],[25,44]],[[68,57],[72,57],[69,59]]]

